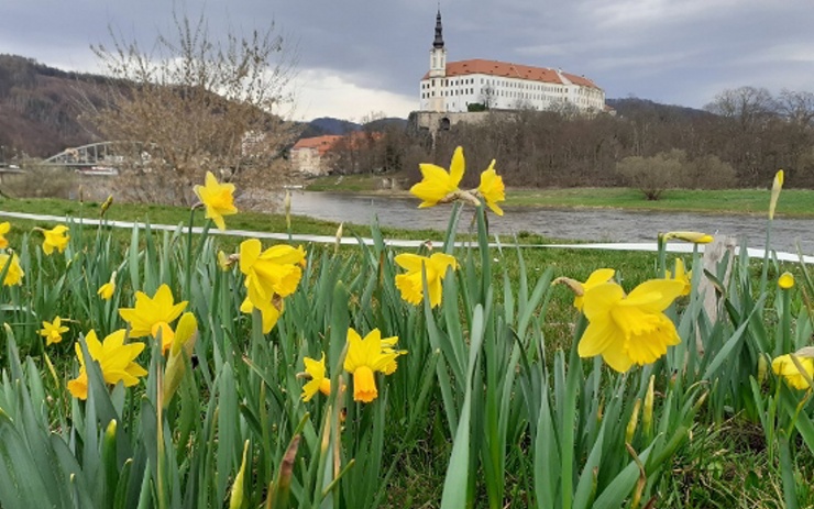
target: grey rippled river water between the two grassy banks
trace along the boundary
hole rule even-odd
[[[336,222],[370,224],[373,217],[385,226],[406,230],[446,230],[452,207],[418,209],[409,197],[292,192],[292,213]],[[474,208],[465,207],[460,230],[472,221]],[[512,236],[531,232],[551,239],[591,242],[653,242],[659,232],[691,230],[746,239],[749,247],[766,244],[767,219],[752,215],[712,215],[685,212],[634,212],[619,209],[538,209],[505,207],[504,215],[490,212],[490,232]],[[774,219],[772,247],[814,254],[814,220]]]

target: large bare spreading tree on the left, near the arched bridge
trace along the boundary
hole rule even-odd
[[[174,12],[174,33],[152,51],[110,31],[112,45],[91,46],[112,78],[109,100],[85,118],[111,141],[132,142],[121,191],[142,201],[188,203],[207,170],[239,189],[280,182],[282,150],[293,137],[282,117],[295,58],[272,24],[216,38],[205,14]]]

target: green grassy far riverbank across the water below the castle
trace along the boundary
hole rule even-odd
[[[309,191],[330,191],[364,195],[408,196],[407,189],[383,189],[383,179],[399,181],[393,176],[330,176],[308,182]],[[771,182],[768,182],[770,185]],[[769,208],[769,189],[671,189],[658,201],[648,201],[632,188],[509,188],[507,207],[539,207],[549,209],[596,208],[636,211],[693,212],[717,214],[763,215]],[[814,218],[814,190],[784,189],[777,208],[778,217]]]

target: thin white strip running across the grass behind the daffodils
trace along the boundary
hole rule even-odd
[[[24,212],[6,212],[0,210],[0,217],[6,218],[15,218],[15,219],[26,219],[32,221],[53,221],[53,222],[66,222],[67,218],[59,217],[59,215],[45,215],[45,214],[30,214]],[[78,219],[73,218],[74,221],[78,221]],[[122,228],[132,230],[134,226],[144,229],[146,228],[145,223],[140,222],[131,222],[131,221],[102,221],[98,219],[81,219],[81,222],[84,224],[90,224],[90,225],[98,225],[101,222],[105,222],[106,225],[112,226],[112,228]],[[175,231],[178,228],[184,228],[186,230],[186,226],[179,226],[179,225],[172,225],[172,224],[150,224],[150,228],[152,230],[166,230],[166,231]],[[199,226],[193,228],[194,233],[202,233],[204,229]],[[227,236],[240,236],[240,237],[252,237],[252,239],[272,239],[276,241],[288,241],[289,236],[287,233],[272,233],[272,232],[252,232],[248,230],[227,230],[221,232],[218,229],[211,229],[209,230],[209,234],[211,235],[227,235]],[[290,236],[290,240],[297,241],[297,242],[314,242],[314,243],[321,243],[321,244],[333,244],[337,242],[337,237],[332,235],[302,235],[302,234],[293,234]],[[355,237],[343,237],[342,244],[344,245],[352,245],[352,244],[359,244],[359,241]],[[373,239],[362,239],[362,242],[364,242],[366,245],[373,245]],[[408,247],[408,248],[415,248],[419,247],[424,243],[426,243],[427,240],[400,240],[400,239],[386,239],[385,243],[393,247]],[[432,241],[432,243],[437,246],[443,245],[440,241]],[[465,245],[464,242],[458,242],[457,245],[462,246]],[[645,251],[645,252],[656,252],[658,251],[658,244],[656,242],[624,242],[624,243],[598,243],[598,244],[515,244],[514,242],[493,242],[490,244],[492,247],[502,246],[502,247],[515,247],[519,245],[524,248],[568,248],[568,250],[604,250],[604,251]],[[704,246],[698,246],[700,251],[704,251]],[[670,253],[692,253],[693,252],[693,245],[686,244],[686,243],[678,243],[678,242],[670,242],[667,244],[667,251]],[[763,250],[758,250],[754,247],[747,248],[747,253],[749,257],[752,258],[762,258],[765,255]],[[781,262],[800,262],[801,257],[796,253],[783,253],[778,252],[777,258]],[[806,264],[814,264],[814,256],[803,256],[803,262]]]

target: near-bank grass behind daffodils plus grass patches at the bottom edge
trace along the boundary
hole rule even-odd
[[[766,191],[761,192],[763,198],[767,198]],[[781,206],[793,201],[788,199],[789,195],[791,193],[783,195],[780,201]],[[75,218],[97,218],[99,215],[99,203],[86,202],[79,204],[65,200],[7,200],[0,204],[0,209]],[[177,224],[186,223],[189,220],[189,210],[161,206],[114,204],[109,212],[109,219],[148,220],[152,223]],[[42,221],[12,220],[11,222],[13,224],[12,235],[21,235],[22,232],[30,231],[35,226],[53,226],[53,224]],[[200,211],[196,213],[196,224],[204,224]],[[252,231],[283,232],[286,229],[283,215],[251,212],[227,218],[227,224],[230,229]],[[336,229],[337,224],[331,222],[314,221],[307,218],[293,219],[293,230],[296,233],[332,235]],[[92,236],[96,230],[95,226],[86,228],[85,234]],[[370,228],[366,225],[345,225],[345,233],[348,235],[369,236]],[[441,232],[415,232],[396,229],[387,229],[383,233],[386,237],[394,239],[440,239],[442,236]],[[12,235],[10,235],[11,244],[20,245],[19,239],[15,240]],[[33,243],[38,240],[37,235],[37,233],[32,235]],[[118,242],[122,248],[129,240],[130,232],[128,230],[116,230],[114,242]],[[220,237],[218,242],[222,248],[229,251],[235,248],[240,239]],[[524,239],[524,242],[537,243],[543,242],[543,240]],[[267,242],[264,242],[264,244],[267,244]],[[332,250],[332,246],[310,246],[308,250],[315,250],[319,253],[323,250]],[[351,255],[354,251],[358,251],[358,248],[344,246],[339,254]],[[116,256],[116,258],[118,257]],[[517,285],[521,268],[516,248],[495,248],[490,253],[490,257],[493,259],[493,276],[496,279],[503,279],[504,274],[506,274],[510,284],[513,286]],[[554,277],[568,276],[580,280],[584,280],[591,272],[598,267],[614,267],[617,270],[617,278],[628,290],[646,279],[660,276],[656,274],[656,257],[652,253],[524,248],[522,257],[531,284],[549,266],[553,267]],[[318,258],[318,256],[315,256],[315,258]],[[789,267],[782,267],[781,269],[785,268],[795,269],[796,267],[789,265]],[[750,276],[752,279],[759,279],[759,270],[750,274]],[[770,277],[773,280],[776,275]],[[573,338],[572,324],[579,316],[571,305],[572,297],[564,287],[554,288],[553,290],[544,320],[541,319],[547,348],[568,348],[571,344]],[[773,332],[770,331],[769,334],[773,335]],[[65,348],[62,348],[62,353],[61,365],[64,367],[65,363],[70,362],[72,355],[67,344]],[[64,370],[61,369],[61,373]],[[440,408],[441,402],[435,401],[433,405],[436,408]],[[438,422],[431,425],[436,433],[438,433],[439,428],[443,428],[439,424],[441,419],[439,417]],[[522,441],[526,439],[520,440],[520,446],[522,446]],[[383,507],[436,507],[440,498],[444,482],[442,466],[449,456],[451,444],[447,442],[446,435],[436,435],[429,432],[425,435],[419,434],[414,440],[415,443],[408,447],[409,453],[399,461],[398,473],[388,487],[388,495]],[[673,458],[671,475],[661,480],[659,489],[661,498],[656,500],[657,506],[676,508],[782,507],[782,488],[778,465],[767,461],[766,445],[761,445],[762,440],[762,433],[760,430],[756,430],[751,422],[732,420],[723,425],[710,424],[707,427],[701,424],[696,427],[693,438],[678,451]],[[811,455],[807,453],[801,454],[798,456],[798,461],[801,472],[810,474],[811,465],[814,464]],[[517,475],[519,474],[516,472],[510,472],[507,475],[507,493],[512,494],[510,500],[513,502],[506,507],[522,507],[522,494],[513,490],[514,487],[521,485],[515,478]],[[483,498],[484,495],[479,494],[481,501],[483,501]],[[812,497],[801,495],[801,499],[811,501]]]

